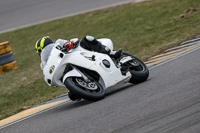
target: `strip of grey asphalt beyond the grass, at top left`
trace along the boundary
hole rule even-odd
[[[0,0],[0,33],[136,0]]]

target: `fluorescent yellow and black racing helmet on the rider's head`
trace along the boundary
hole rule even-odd
[[[51,40],[49,36],[42,37],[36,42],[35,51],[40,55],[44,47],[46,47],[47,45],[51,43],[53,43],[53,41]]]

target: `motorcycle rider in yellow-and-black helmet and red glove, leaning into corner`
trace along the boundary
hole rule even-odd
[[[68,52],[71,49],[76,48],[78,45],[79,45],[78,38],[74,38],[69,41],[64,39],[57,39],[55,42],[53,42],[49,36],[40,38],[35,44],[35,50],[36,53],[38,53],[38,55],[41,57],[41,64],[40,64],[41,69],[43,70],[46,62],[48,61],[51,50],[54,46],[63,52]],[[89,35],[87,35],[80,41],[80,46],[90,51],[107,54],[115,59],[120,58],[122,53],[121,49],[118,51],[111,51],[108,47],[102,45],[101,42],[99,42],[93,36]],[[71,92],[68,92],[68,96],[73,101],[80,100],[79,97],[75,96]]]

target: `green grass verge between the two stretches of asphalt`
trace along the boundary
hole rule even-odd
[[[197,11],[186,13],[188,8]],[[184,18],[180,15],[185,13]],[[18,69],[0,75],[0,119],[52,99],[65,88],[49,87],[43,80],[40,58],[34,51],[42,36],[107,37],[142,60],[176,46],[200,33],[199,0],[156,0],[98,10],[0,34],[10,41]]]

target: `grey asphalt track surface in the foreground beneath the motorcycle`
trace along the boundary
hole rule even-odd
[[[200,49],[150,69],[97,102],[67,102],[0,133],[199,133]]]

